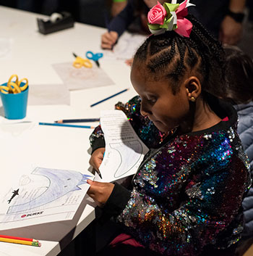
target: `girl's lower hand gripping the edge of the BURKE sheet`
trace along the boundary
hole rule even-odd
[[[90,180],[87,180],[87,183],[90,184],[90,189],[87,191],[87,194],[99,207],[103,207],[113,191],[114,184]]]

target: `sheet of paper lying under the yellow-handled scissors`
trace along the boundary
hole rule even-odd
[[[92,68],[76,68],[72,64],[73,62],[67,62],[53,65],[54,70],[69,90],[112,86],[114,84],[102,67],[97,67],[95,62]]]

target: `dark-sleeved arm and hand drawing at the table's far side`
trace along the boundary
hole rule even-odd
[[[129,0],[127,6],[107,25],[108,31],[101,36],[101,47],[112,49],[118,38],[127,29],[134,17],[134,0]]]

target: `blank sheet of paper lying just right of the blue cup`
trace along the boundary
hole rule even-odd
[[[28,105],[70,104],[70,94],[66,84],[30,85]]]

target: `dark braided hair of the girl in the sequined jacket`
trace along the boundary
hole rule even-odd
[[[185,72],[193,70],[194,75],[199,75],[202,91],[221,96],[223,88],[220,85],[225,83],[223,48],[194,16],[186,18],[193,25],[189,38],[175,31],[150,36],[137,50],[134,64],[145,64],[153,80],[172,78],[173,94],[178,91],[178,82]]]

